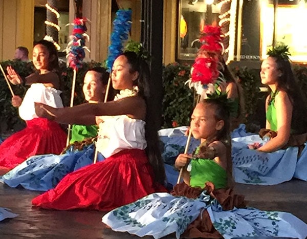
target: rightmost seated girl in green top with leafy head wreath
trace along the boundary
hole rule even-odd
[[[287,47],[273,49],[262,62],[261,83],[270,89],[266,100],[266,129],[259,132],[262,139],[258,136],[233,139],[236,182],[273,185],[294,176],[307,179],[306,150],[297,160],[307,136],[307,103],[294,78],[287,53]]]

